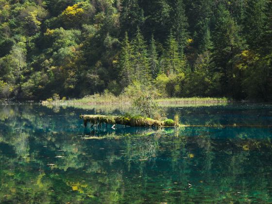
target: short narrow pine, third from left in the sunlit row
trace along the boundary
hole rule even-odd
[[[156,45],[153,35],[151,37],[149,45],[149,62],[152,78],[155,79],[159,73],[159,67],[158,67],[158,53],[156,51]]]

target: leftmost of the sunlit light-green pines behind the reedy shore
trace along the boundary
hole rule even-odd
[[[133,80],[133,68],[131,60],[132,60],[132,47],[128,39],[128,34],[125,33],[125,38],[122,42],[122,49],[119,54],[120,77],[123,88],[130,85]]]

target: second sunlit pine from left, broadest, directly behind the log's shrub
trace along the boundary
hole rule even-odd
[[[132,48],[134,80],[148,83],[151,80],[151,72],[149,68],[147,46],[139,28],[137,28],[136,36],[132,41]]]

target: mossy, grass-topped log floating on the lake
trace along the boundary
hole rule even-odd
[[[103,116],[103,115],[82,115],[81,119],[84,120],[85,127],[87,123],[93,125],[102,125],[104,124],[120,124],[127,125],[132,127],[177,127],[179,126],[178,122],[175,122],[172,119],[166,120],[155,120],[151,118],[135,116],[135,117],[126,117],[126,116]]]

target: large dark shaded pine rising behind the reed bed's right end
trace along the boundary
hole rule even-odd
[[[232,86],[234,59],[243,50],[244,44],[239,36],[238,25],[224,5],[219,5],[216,17],[217,23],[212,36],[212,62],[215,69],[222,74],[222,94],[234,94]]]

